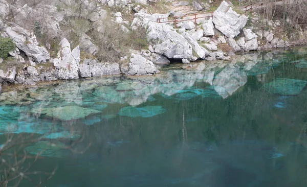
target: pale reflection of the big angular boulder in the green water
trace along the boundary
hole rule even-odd
[[[231,96],[245,83],[247,83],[247,75],[240,71],[238,66],[226,66],[213,80],[215,91],[220,93],[224,99]]]

